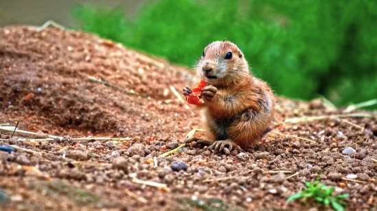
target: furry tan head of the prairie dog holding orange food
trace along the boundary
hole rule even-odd
[[[199,76],[216,84],[236,80],[239,76],[249,74],[249,66],[243,53],[236,44],[223,40],[215,41],[204,48],[203,55],[197,63]]]

